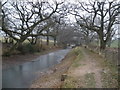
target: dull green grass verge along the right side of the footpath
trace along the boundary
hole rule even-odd
[[[89,51],[88,53],[90,54]],[[105,60],[102,56],[98,56],[95,52],[93,53],[94,58],[98,58],[98,61],[103,68],[100,72],[101,82],[103,88],[117,88],[118,85],[118,67],[110,60]]]

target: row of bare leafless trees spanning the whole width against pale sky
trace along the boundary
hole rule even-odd
[[[16,41],[10,52],[30,37],[31,43],[34,43],[38,36],[48,36],[47,42],[49,36],[52,36],[55,42],[57,38],[58,42],[60,40],[63,42],[61,39],[63,34],[69,37],[66,38],[67,40],[77,37],[80,41],[84,39],[86,44],[95,37],[99,38],[100,50],[104,50],[116,32],[115,26],[119,24],[120,2],[114,0],[76,4],[57,1],[14,2],[8,0],[1,5],[2,32]],[[75,17],[77,24],[73,22],[73,26],[67,25],[66,18],[69,14]]]

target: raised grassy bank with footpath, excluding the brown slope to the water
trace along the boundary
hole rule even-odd
[[[77,47],[62,88],[117,88],[117,67],[96,53]]]

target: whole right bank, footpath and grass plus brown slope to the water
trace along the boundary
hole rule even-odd
[[[87,49],[81,48],[82,57],[69,55],[61,64],[53,67],[42,78],[31,85],[32,88],[116,88],[118,76],[109,68],[104,59]],[[76,61],[77,59],[77,61]],[[76,62],[76,65],[73,64]],[[56,68],[56,70],[54,70]],[[55,71],[55,72],[54,72]],[[61,82],[61,75],[68,75]]]

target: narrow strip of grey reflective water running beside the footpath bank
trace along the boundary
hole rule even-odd
[[[32,81],[40,76],[39,72],[44,72],[55,64],[60,63],[69,51],[70,49],[58,50],[42,55],[31,62],[3,70],[2,87],[28,88]]]

